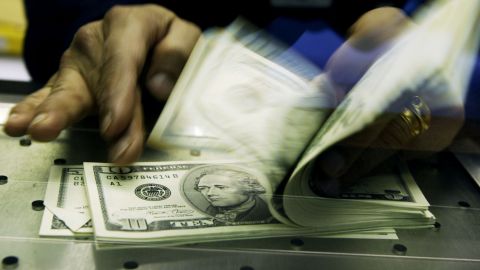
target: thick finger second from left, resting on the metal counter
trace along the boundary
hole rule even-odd
[[[40,103],[27,133],[32,139],[50,141],[93,111],[94,100],[84,78],[73,69],[58,72],[49,95]]]

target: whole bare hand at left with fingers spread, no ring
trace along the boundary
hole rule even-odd
[[[98,113],[110,161],[136,160],[145,137],[141,85],[165,100],[200,33],[161,6],[113,7],[77,31],[56,74],[11,110],[5,132],[51,141]]]

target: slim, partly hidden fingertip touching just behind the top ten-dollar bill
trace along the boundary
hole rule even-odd
[[[109,160],[119,164],[134,162],[143,150],[144,138],[140,89],[137,89],[133,119],[125,133],[111,144]]]

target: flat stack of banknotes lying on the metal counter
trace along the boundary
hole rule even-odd
[[[289,220],[274,208],[276,196],[265,176],[231,162],[58,165],[50,170],[40,236],[165,245],[293,235],[391,239],[394,227],[433,220],[401,168],[377,170],[335,199],[297,198],[325,204],[304,212],[322,223],[315,226]]]

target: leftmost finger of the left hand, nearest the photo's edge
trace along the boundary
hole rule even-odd
[[[37,107],[48,97],[55,80],[56,74],[48,80],[44,87],[28,95],[10,110],[10,115],[4,126],[5,133],[9,136],[23,136],[27,133]]]

